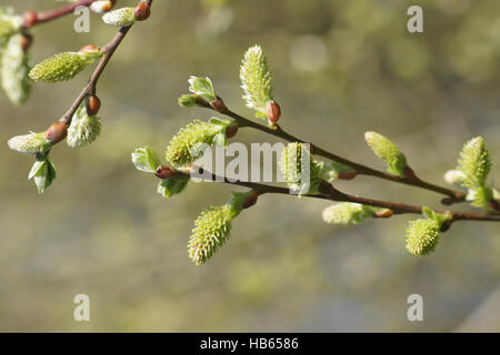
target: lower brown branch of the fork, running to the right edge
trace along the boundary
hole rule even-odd
[[[274,194],[284,194],[284,195],[293,196],[293,194],[290,194],[290,190],[287,187],[272,186],[272,185],[249,182],[249,181],[231,180],[228,178],[222,178],[222,176],[216,175],[208,171],[203,171],[203,169],[196,166],[196,165],[193,165],[191,169],[198,170],[198,172],[200,174],[208,176],[210,181],[249,187],[249,189],[254,190],[259,195],[263,195],[267,193],[274,193]],[[176,174],[179,174],[179,175],[191,176],[190,173],[187,173],[184,171],[174,170],[174,172],[176,172]],[[374,206],[374,207],[389,209],[393,212],[393,214],[422,214],[423,206],[409,205],[409,204],[404,204],[404,203],[388,202],[388,201],[381,201],[381,200],[360,197],[360,196],[356,196],[356,195],[349,195],[349,194],[346,194],[346,193],[334,189],[330,183],[328,183],[326,181],[321,182],[320,191],[321,191],[321,194],[304,195],[304,196],[312,197],[312,199],[334,201],[334,202],[359,203],[359,204],[370,205],[370,206]],[[456,222],[456,221],[500,222],[500,215],[498,215],[498,214],[488,215],[488,214],[480,214],[480,213],[466,213],[466,212],[453,212],[453,211],[436,211],[436,212],[447,213],[447,214],[451,215],[451,222]]]

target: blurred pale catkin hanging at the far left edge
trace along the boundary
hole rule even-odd
[[[31,81],[28,73],[28,53],[24,49],[26,37],[13,34],[9,38],[1,57],[1,84],[10,101],[21,105],[28,99],[31,91]]]

